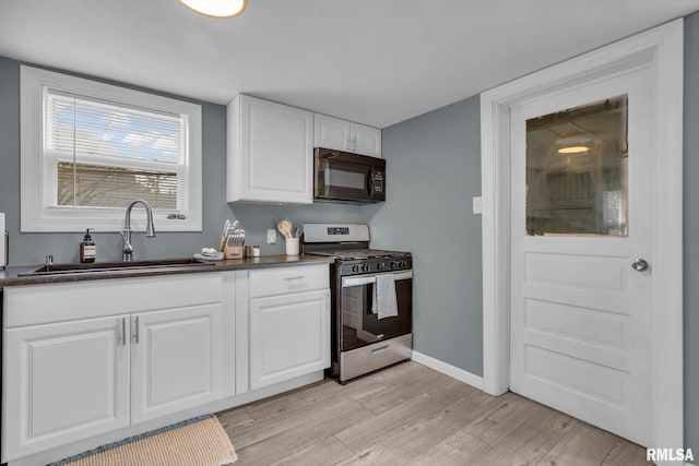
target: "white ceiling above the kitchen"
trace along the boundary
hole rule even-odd
[[[699,0],[0,0],[0,56],[379,128],[699,9]]]

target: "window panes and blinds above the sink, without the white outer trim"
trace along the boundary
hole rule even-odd
[[[52,89],[45,101],[45,175],[55,180],[49,204],[123,208],[141,198],[155,210],[177,210],[181,116]]]

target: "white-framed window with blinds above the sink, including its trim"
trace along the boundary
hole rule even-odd
[[[22,231],[201,231],[201,106],[20,67]],[[131,225],[143,228],[134,212]]]

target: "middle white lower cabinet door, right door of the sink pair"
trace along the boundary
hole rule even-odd
[[[222,304],[131,316],[132,422],[224,397]]]

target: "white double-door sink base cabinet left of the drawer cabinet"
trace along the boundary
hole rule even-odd
[[[5,288],[2,462],[233,396],[234,289],[220,274]]]

